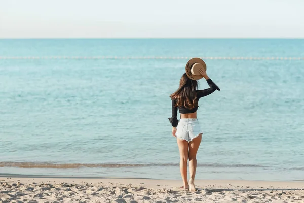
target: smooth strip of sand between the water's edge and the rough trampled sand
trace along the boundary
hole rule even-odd
[[[30,184],[33,182],[55,182],[55,183],[89,183],[89,184],[98,184],[98,183],[117,183],[117,184],[142,184],[149,187],[159,188],[170,188],[170,187],[179,187],[182,185],[182,180],[166,180],[166,179],[146,179],[146,178],[114,178],[114,177],[79,177],[79,176],[3,176],[0,175],[0,180],[2,181],[19,181],[20,183]],[[304,190],[304,180],[298,181],[251,181],[251,180],[208,180],[208,179],[199,179],[195,180],[196,186],[206,188],[207,186],[212,187],[225,187],[229,185],[234,185],[237,187],[250,187],[252,189],[264,188],[273,190],[275,188],[283,189],[300,189]]]

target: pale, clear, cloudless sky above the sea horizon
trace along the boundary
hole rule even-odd
[[[0,38],[304,38],[304,0],[0,0]]]

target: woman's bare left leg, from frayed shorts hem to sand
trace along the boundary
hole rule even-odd
[[[178,138],[176,140],[180,154],[180,162],[179,162],[180,174],[183,181],[183,188],[186,189],[189,188],[189,184],[187,180],[187,162],[188,162],[189,144],[185,140],[181,140]]]

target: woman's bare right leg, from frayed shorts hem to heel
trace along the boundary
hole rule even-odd
[[[200,134],[198,137],[193,139],[189,143],[189,171],[190,171],[190,179],[189,179],[189,187],[190,191],[195,191],[195,185],[194,185],[194,178],[197,168],[197,160],[196,155],[198,152],[198,149],[200,147],[202,141],[202,134]]]

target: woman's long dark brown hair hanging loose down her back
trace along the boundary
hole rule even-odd
[[[191,80],[186,73],[184,73],[179,81],[179,88],[170,95],[176,99],[176,106],[193,109],[198,106],[196,90],[198,82]]]

